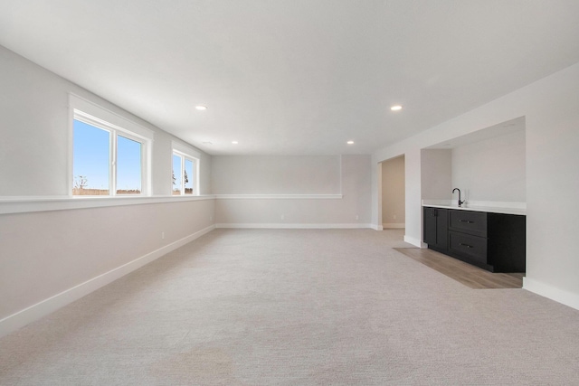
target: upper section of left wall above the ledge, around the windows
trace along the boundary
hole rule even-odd
[[[69,194],[70,92],[155,132],[153,194],[171,194],[171,140],[183,141],[2,46],[0,74],[0,197]],[[197,151],[211,193],[211,156]]]

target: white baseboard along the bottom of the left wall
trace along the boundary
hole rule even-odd
[[[78,286],[71,287],[65,291],[62,291],[60,294],[56,294],[33,306],[24,308],[22,311],[19,311],[13,315],[6,316],[4,319],[0,320],[0,337],[5,336],[6,334],[10,334],[17,329],[24,327],[24,325],[28,325],[45,315],[49,315],[62,306],[71,304],[73,301],[78,300],[81,297],[89,295],[91,292],[96,291],[100,287],[104,287],[107,284],[117,280],[118,278],[121,278],[128,273],[143,267],[147,263],[150,263],[151,261],[166,255],[170,251],[182,247],[186,243],[203,236],[205,233],[213,231],[214,228],[215,226],[212,225],[201,231],[197,231],[181,240],[176,240],[175,242],[167,244],[164,247],[147,253],[145,256],[141,256],[140,258],[134,259],[127,264],[123,264],[118,268],[111,269],[109,272],[103,273],[102,275],[99,275],[95,278],[91,278],[90,280],[87,280]]]

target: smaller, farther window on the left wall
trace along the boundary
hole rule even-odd
[[[174,142],[172,165],[171,193],[173,195],[199,194],[199,155],[192,149]]]

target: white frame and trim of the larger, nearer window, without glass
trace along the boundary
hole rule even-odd
[[[127,118],[119,116],[119,114],[110,111],[107,108],[102,108],[99,105],[90,102],[90,100],[83,99],[75,94],[69,94],[69,138],[70,138],[70,154],[69,154],[69,187],[68,192],[71,197],[86,198],[92,196],[78,196],[72,195],[72,187],[74,185],[74,165],[73,165],[73,133],[74,133],[74,120],[80,120],[81,122],[87,123],[94,127],[99,127],[111,132],[110,136],[110,148],[113,151],[110,154],[109,165],[111,167],[111,173],[109,174],[109,192],[107,197],[119,197],[119,196],[150,196],[152,193],[151,184],[151,170],[152,170],[152,148],[153,141],[155,138],[155,133],[148,129],[147,127],[142,127],[137,123],[128,120]],[[128,139],[135,140],[141,143],[141,193],[140,194],[117,194],[117,135],[122,137],[127,137]]]

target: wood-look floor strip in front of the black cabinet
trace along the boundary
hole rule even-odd
[[[492,273],[485,269],[472,266],[464,261],[460,261],[459,259],[443,255],[432,249],[394,249],[470,288],[485,289],[523,287],[524,273]]]

